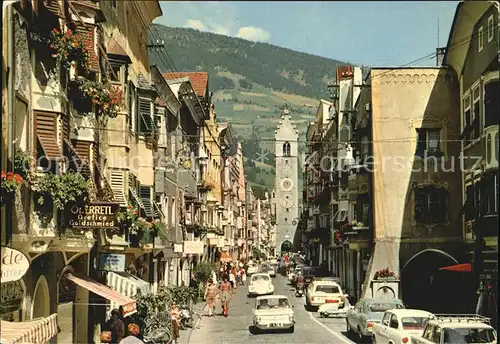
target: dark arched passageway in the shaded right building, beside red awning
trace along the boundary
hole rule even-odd
[[[439,250],[423,250],[408,260],[401,270],[401,292],[408,308],[434,313],[463,313],[463,276],[439,268],[457,260]]]

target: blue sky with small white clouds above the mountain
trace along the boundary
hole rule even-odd
[[[369,66],[402,66],[445,46],[458,1],[162,1],[155,22]],[[417,65],[433,65],[428,59]]]

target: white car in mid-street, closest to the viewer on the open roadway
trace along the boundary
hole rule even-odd
[[[284,295],[259,296],[252,311],[250,332],[282,329],[293,333],[295,314],[292,307]]]

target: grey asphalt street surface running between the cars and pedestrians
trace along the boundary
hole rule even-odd
[[[293,288],[285,277],[278,275],[273,279],[275,294],[289,297],[294,306],[294,333],[250,334],[248,327],[252,322],[252,308],[255,299],[247,297],[247,287],[239,287],[229,308],[229,316],[220,316],[220,304],[217,304],[217,316],[201,320],[200,328],[192,332],[189,344],[205,343],[354,343],[345,334],[344,319],[323,319],[315,312],[304,308],[304,298],[297,298]]]

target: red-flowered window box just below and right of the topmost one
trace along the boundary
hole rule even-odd
[[[115,118],[123,104],[120,87],[95,80],[75,78],[68,85],[69,95],[79,102],[90,101],[97,107],[98,115]]]

